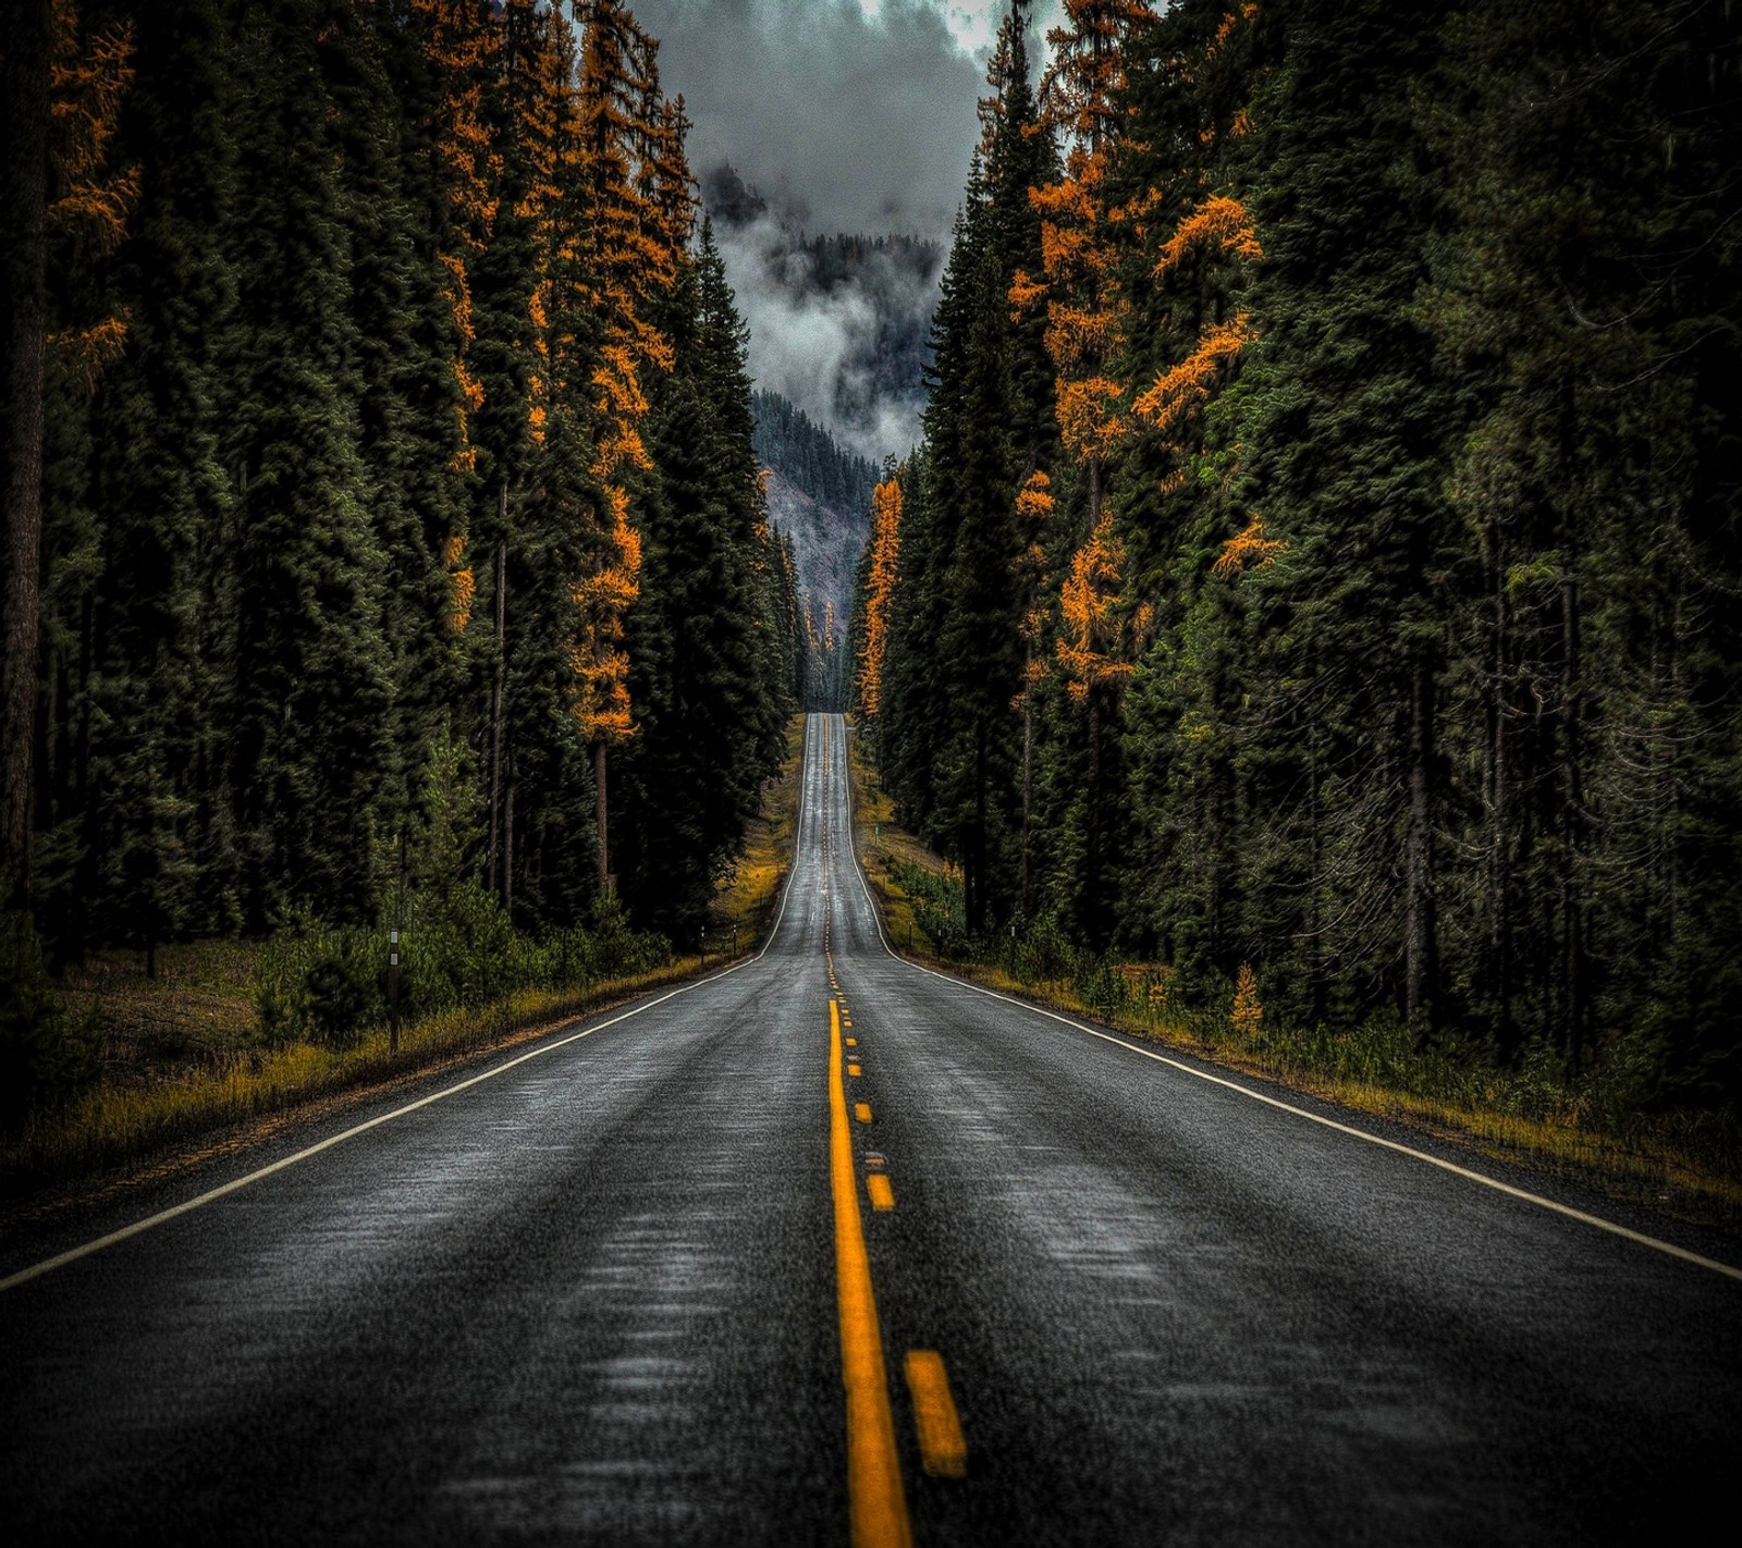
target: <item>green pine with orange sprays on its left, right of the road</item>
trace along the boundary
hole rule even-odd
[[[1247,103],[1261,75],[1254,7],[1174,5],[1134,47],[1153,64],[1125,92],[1129,148],[1110,176],[1124,230],[1132,425],[1110,508],[1125,547],[1136,670],[1125,690],[1131,825],[1118,839],[1120,933],[1211,991],[1272,940],[1249,939],[1242,808],[1258,780],[1240,653],[1261,521],[1239,503],[1244,448],[1228,428],[1256,327],[1246,291],[1261,242],[1242,186]],[[1254,547],[1259,545],[1259,547]],[[1258,798],[1263,799],[1263,798]]]

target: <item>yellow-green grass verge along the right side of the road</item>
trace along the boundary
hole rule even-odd
[[[1171,1001],[1160,963],[1125,963],[1036,928],[996,951],[956,935],[960,879],[899,829],[874,771],[854,757],[855,839],[897,947],[977,984],[1322,1097],[1493,1160],[1596,1188],[1658,1214],[1742,1233],[1742,1135],[1716,1114],[1641,1113],[1601,1074],[1568,1088],[1529,1060],[1498,1069],[1479,1050],[1416,1048],[1401,1026],[1303,1033]],[[955,897],[951,897],[955,892]],[[1237,1026],[1239,1020],[1239,1026]],[[1625,1081],[1620,1081],[1625,1085]]]

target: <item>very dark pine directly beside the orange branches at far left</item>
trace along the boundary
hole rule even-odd
[[[51,796],[77,836],[57,845],[61,897],[44,902],[68,954],[94,937],[141,944],[150,961],[159,939],[235,921],[235,899],[204,885],[225,831],[225,679],[211,646],[233,498],[219,460],[233,99],[216,5],[143,16],[136,42],[120,148],[141,192],[113,275],[132,320],[92,406],[103,566],[87,627],[70,634],[82,702],[54,712],[70,757]]]

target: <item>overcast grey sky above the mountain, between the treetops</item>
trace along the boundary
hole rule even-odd
[[[730,160],[814,232],[948,239],[1005,0],[631,0],[683,92],[697,172]],[[1054,7],[1042,7],[1054,9]]]

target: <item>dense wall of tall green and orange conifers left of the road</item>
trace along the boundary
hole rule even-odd
[[[14,7],[3,839],[61,958],[368,919],[401,855],[699,928],[803,620],[681,108],[573,10]]]

